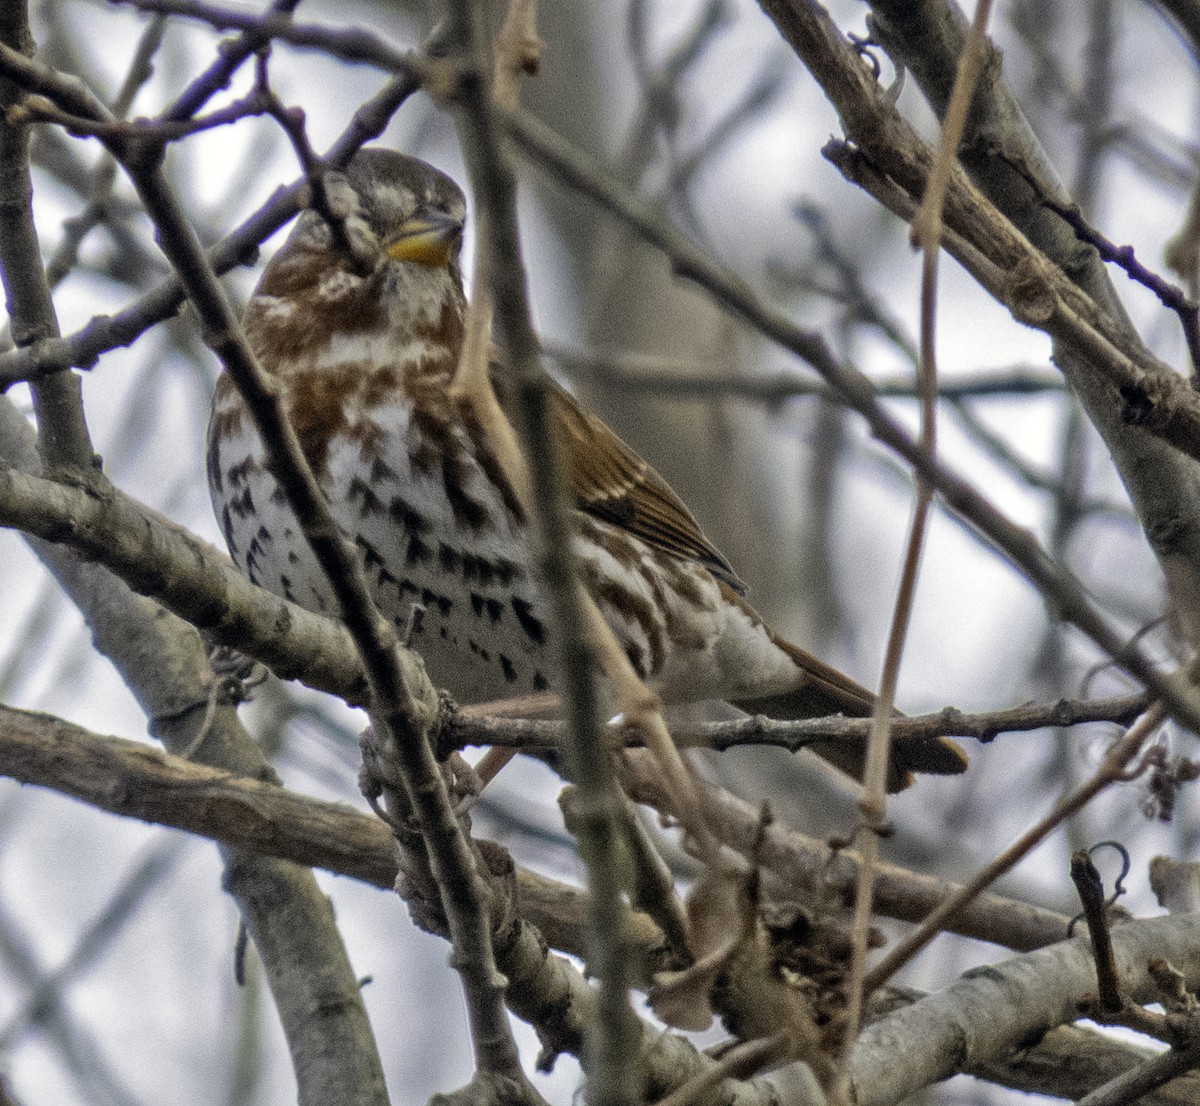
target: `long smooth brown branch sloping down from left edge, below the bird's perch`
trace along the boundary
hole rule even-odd
[[[376,817],[341,803],[301,795],[161,752],[144,743],[112,738],[44,714],[0,707],[0,764],[4,775],[23,783],[53,788],[124,818],[152,822],[224,842],[246,853],[319,867],[372,886],[396,883],[397,858],[390,830]],[[707,809],[722,841],[750,850],[760,812],[727,792],[712,791]],[[773,827],[761,859],[780,883],[794,891],[821,886],[839,902],[853,890],[858,860],[848,849]],[[582,892],[540,880],[518,868],[521,912],[544,931],[554,948],[586,958]],[[884,865],[878,910],[913,921],[955,885],[894,865]],[[1028,951],[1061,940],[1068,918],[1015,898],[983,895],[971,903],[949,932]],[[631,921],[636,939],[630,951],[650,951],[648,922]],[[640,956],[635,956],[635,960]],[[643,980],[644,982],[644,980]]]

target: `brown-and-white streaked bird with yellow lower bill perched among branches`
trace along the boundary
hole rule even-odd
[[[302,211],[244,313],[313,475],[358,549],[380,612],[460,703],[550,692],[553,627],[530,519],[472,411],[449,386],[464,335],[467,204],[448,175],[365,146],[324,175],[341,222]],[[502,407],[503,359],[491,369]],[[665,703],[725,699],[798,720],[870,715],[875,697],[786,641],[670,485],[548,381],[580,578],[634,669]],[[230,380],[216,383],[208,479],[229,553],[256,584],[336,615],[329,582]],[[814,751],[852,776],[865,746]],[[893,749],[889,791],[950,775],[936,738]]]

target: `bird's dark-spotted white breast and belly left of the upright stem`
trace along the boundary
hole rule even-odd
[[[289,419],[380,612],[463,702],[550,686],[523,515],[494,458],[448,402],[398,379],[288,374]],[[236,396],[218,393],[210,485],[230,553],[257,584],[336,613]]]

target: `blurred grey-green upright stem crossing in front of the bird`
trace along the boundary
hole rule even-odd
[[[451,11],[454,29],[450,37],[457,42],[467,60],[457,94],[462,107],[460,126],[480,224],[478,256],[487,278],[484,285],[476,284],[475,295],[479,296],[482,288],[491,297],[488,302],[485,295],[475,308],[455,387],[474,404],[493,449],[536,524],[536,564],[553,612],[563,677],[569,727],[564,751],[580,792],[576,830],[588,870],[589,963],[600,985],[595,1017],[587,1027],[584,1066],[589,1095],[598,1102],[622,1106],[641,1102],[644,1092],[641,1064],[634,1047],[637,1016],[629,1002],[631,964],[622,939],[624,926],[620,919],[625,916],[626,908],[622,898],[624,889],[619,861],[620,815],[614,809],[620,800],[604,740],[596,687],[600,663],[610,671],[607,660],[601,660],[599,655],[607,627],[595,605],[588,602],[575,567],[571,523],[556,456],[556,431],[550,421],[547,385],[539,365],[538,342],[526,299],[516,185],[498,143],[493,100],[480,61],[475,6],[460,0]],[[497,68],[506,73],[500,84],[510,102],[516,98],[516,73],[523,68],[520,59],[527,56],[524,44],[536,42],[533,18],[532,5],[514,5],[509,11],[511,22],[506,20],[504,40],[512,54],[509,58],[498,56]],[[524,449],[500,410],[488,380],[486,331],[492,305],[499,342],[515,381],[517,428]],[[610,675],[614,673],[610,671]]]

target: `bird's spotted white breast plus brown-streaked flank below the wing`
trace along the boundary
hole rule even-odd
[[[547,690],[554,661],[529,527],[482,427],[451,407],[452,366],[413,372],[426,362],[395,348],[367,359],[344,356],[336,344],[325,350],[277,379],[379,609],[425,656],[433,680],[462,702]],[[210,483],[242,571],[336,614],[332,589],[228,384],[214,407]],[[733,637],[761,637],[769,647],[761,625],[737,621],[703,565],[616,523],[582,512],[575,523],[584,585],[634,667],[666,698],[719,696],[728,680],[722,648]]]

